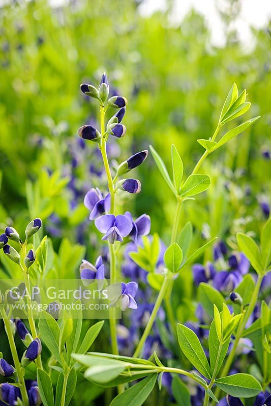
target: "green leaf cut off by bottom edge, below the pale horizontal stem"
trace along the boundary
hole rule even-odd
[[[152,374],[143,379],[125,392],[117,395],[110,406],[141,406],[150,392],[152,392],[157,379],[157,374]]]

